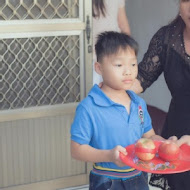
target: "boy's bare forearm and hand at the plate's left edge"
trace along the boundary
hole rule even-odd
[[[72,157],[85,162],[114,162],[118,166],[124,166],[119,159],[119,152],[127,154],[126,149],[122,146],[116,146],[111,150],[99,150],[87,144],[80,145],[71,141]]]

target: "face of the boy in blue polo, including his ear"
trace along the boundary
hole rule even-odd
[[[95,69],[102,75],[104,85],[115,90],[128,90],[138,73],[135,52],[131,48],[121,49],[114,55],[105,56],[101,63],[96,63]]]

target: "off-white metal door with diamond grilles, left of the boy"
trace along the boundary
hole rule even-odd
[[[91,1],[0,1],[0,189],[86,184],[70,125],[92,85]]]

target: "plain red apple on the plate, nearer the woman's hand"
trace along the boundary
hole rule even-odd
[[[179,152],[179,147],[171,141],[163,142],[158,148],[160,158],[165,161],[177,160],[179,158]]]

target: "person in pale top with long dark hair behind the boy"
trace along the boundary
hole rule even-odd
[[[105,31],[122,32],[130,35],[125,9],[125,0],[92,0],[93,12],[93,65],[97,61],[94,44],[97,36]],[[93,84],[99,84],[101,76],[93,66]]]

